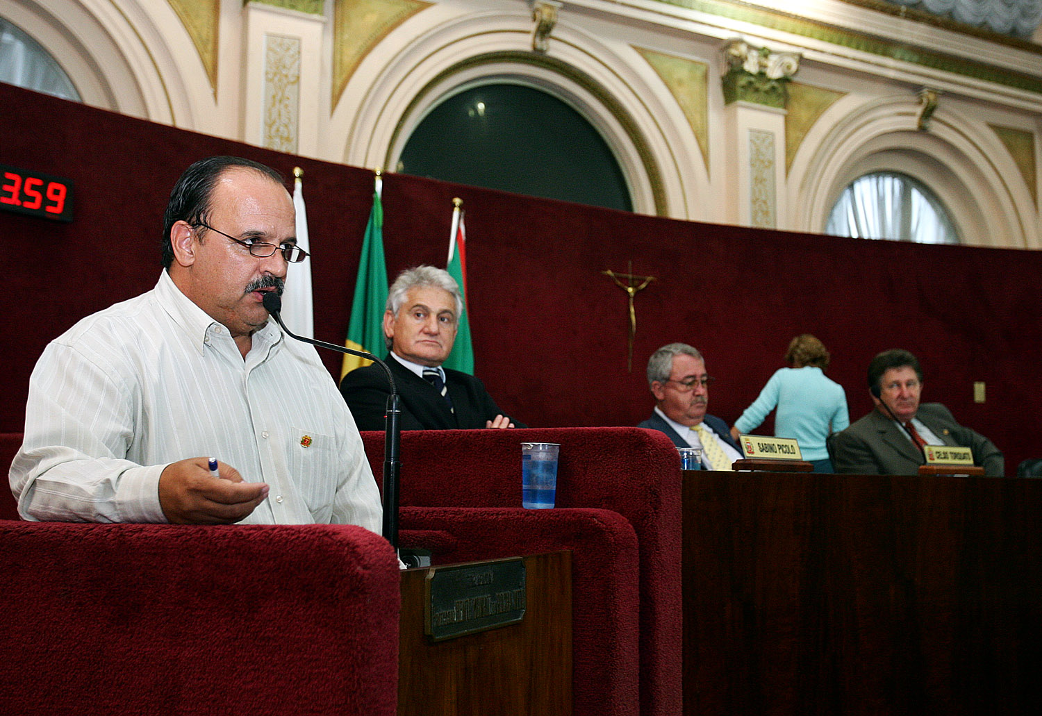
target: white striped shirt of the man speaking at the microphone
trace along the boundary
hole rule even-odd
[[[11,491],[27,519],[165,522],[163,469],[210,455],[271,488],[244,524],[380,530],[362,438],[315,349],[269,321],[244,361],[164,271],[44,350]]]

